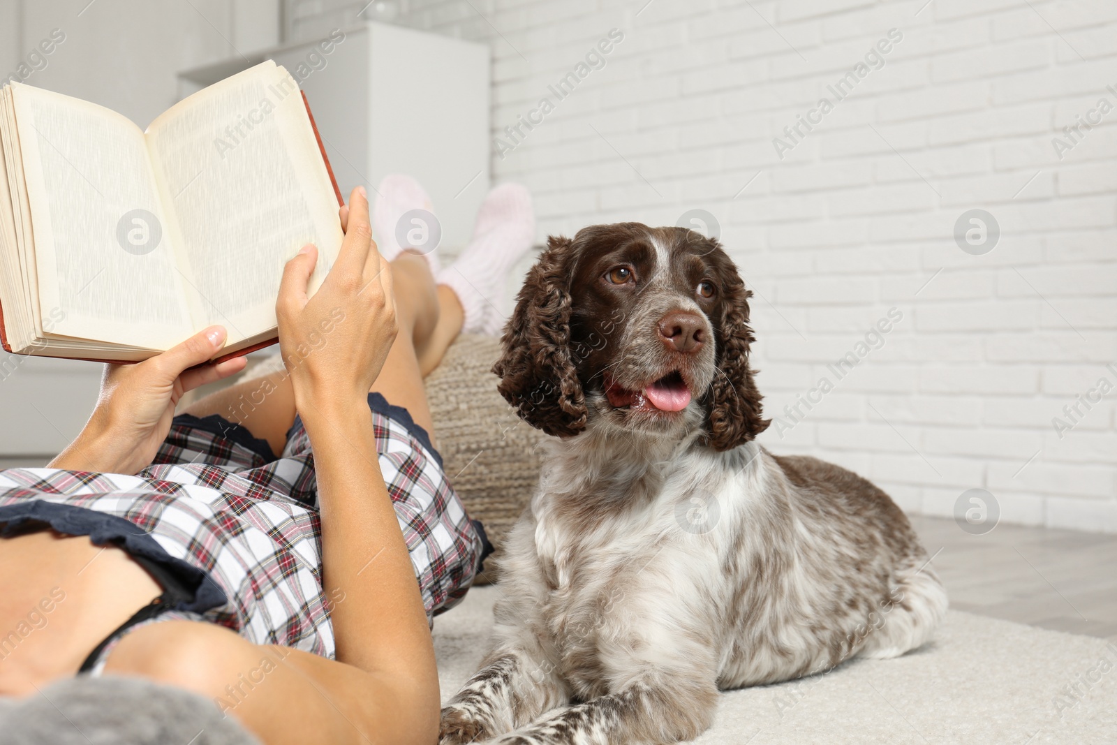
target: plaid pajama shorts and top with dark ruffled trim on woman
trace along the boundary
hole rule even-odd
[[[487,542],[427,432],[376,393],[369,405],[380,469],[431,620],[465,596]],[[254,643],[334,656],[330,610],[344,598],[323,591],[314,453],[298,418],[278,458],[240,424],[179,416],[135,476],[0,471],[0,535],[44,523],[118,545],[173,575],[192,598],[152,621],[209,621]]]

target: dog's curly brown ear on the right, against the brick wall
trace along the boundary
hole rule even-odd
[[[748,348],[756,341],[748,326],[752,292],[727,256],[720,275],[725,302],[715,331],[718,372],[706,397],[706,439],[715,450],[732,450],[763,432],[772,420],[762,416],[763,397],[748,366]]]

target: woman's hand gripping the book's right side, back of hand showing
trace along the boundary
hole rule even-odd
[[[318,250],[305,246],[284,268],[276,300],[279,348],[304,421],[367,417],[365,398],[395,340],[392,270],[372,241],[363,187],[341,216],[345,240],[318,292],[306,296]]]

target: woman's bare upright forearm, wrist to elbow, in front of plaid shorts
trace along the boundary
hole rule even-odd
[[[438,671],[419,584],[380,471],[367,404],[300,407],[314,448],[322,520],[323,588],[337,659],[367,672],[403,674],[430,689]]]

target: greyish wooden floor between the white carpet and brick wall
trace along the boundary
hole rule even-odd
[[[951,608],[1117,641],[1117,535],[911,516]]]

